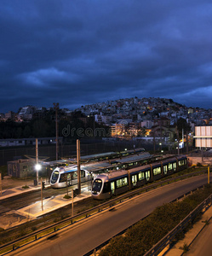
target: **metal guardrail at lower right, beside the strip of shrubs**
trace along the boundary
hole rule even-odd
[[[200,212],[206,210],[212,203],[212,195],[209,195],[201,204],[198,205],[190,214],[184,218],[180,224],[178,224],[173,230],[171,230],[166,236],[164,236],[156,245],[154,245],[144,256],[157,256],[158,253],[163,251],[164,247],[169,246],[171,241],[175,239],[175,236],[179,234],[182,230],[185,230],[187,225],[192,222],[194,218],[198,216]]]

